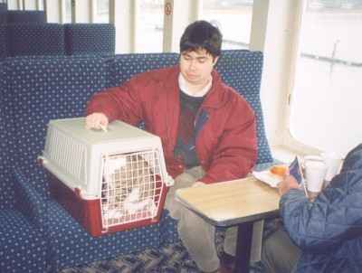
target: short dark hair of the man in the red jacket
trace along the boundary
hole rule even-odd
[[[213,24],[195,21],[186,27],[180,40],[180,52],[195,52],[205,49],[213,57],[220,56],[223,35]]]

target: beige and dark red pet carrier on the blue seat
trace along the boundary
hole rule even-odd
[[[40,160],[52,197],[92,236],[157,222],[173,184],[160,138],[120,121],[105,132],[51,120]]]

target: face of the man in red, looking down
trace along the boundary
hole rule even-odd
[[[217,57],[200,49],[195,52],[181,52],[180,71],[190,85],[204,85],[210,80]]]

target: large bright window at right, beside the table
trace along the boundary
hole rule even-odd
[[[362,1],[309,0],[291,97],[291,135],[346,154],[362,142]]]

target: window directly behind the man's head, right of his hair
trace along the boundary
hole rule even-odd
[[[202,19],[223,33],[223,49],[249,48],[253,0],[204,0]]]

